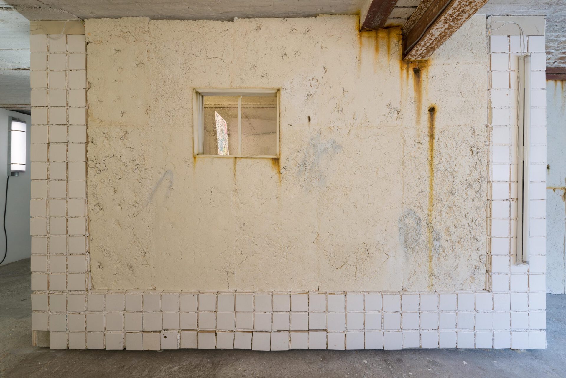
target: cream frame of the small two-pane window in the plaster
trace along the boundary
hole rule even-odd
[[[193,89],[193,156],[194,157],[246,157],[246,158],[279,158],[279,113],[280,113],[280,89],[279,88],[194,88]],[[241,97],[273,96],[277,98],[276,106],[276,146],[275,155],[242,155],[242,106]],[[204,96],[239,96],[238,100],[238,154],[218,155],[204,154]]]

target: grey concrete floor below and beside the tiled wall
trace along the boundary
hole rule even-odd
[[[105,351],[32,347],[29,260],[0,267],[1,377],[565,377],[566,295],[547,296],[546,350]]]

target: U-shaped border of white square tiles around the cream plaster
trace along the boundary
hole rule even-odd
[[[49,336],[52,349],[546,347],[543,89],[533,93],[530,268],[516,267],[511,254],[516,38],[490,37],[491,291],[174,293],[89,290],[84,35],[32,35],[34,340]],[[544,37],[526,42],[544,63]],[[535,69],[538,85],[544,65]]]

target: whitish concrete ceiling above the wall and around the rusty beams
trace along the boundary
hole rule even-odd
[[[367,0],[0,0],[0,106],[29,107],[29,22],[147,16],[231,20],[359,14]],[[398,0],[386,26],[403,25],[422,0]],[[9,3],[9,5],[8,5]],[[13,6],[13,7],[12,7]],[[18,13],[19,12],[19,13]],[[566,0],[490,0],[478,13],[545,15],[549,66],[566,66]],[[22,16],[23,15],[23,16]],[[27,18],[27,20],[26,20]]]

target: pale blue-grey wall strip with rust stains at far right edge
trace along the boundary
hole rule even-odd
[[[548,167],[546,173],[546,232],[548,293],[566,289],[566,80],[546,81]]]

